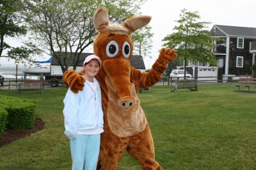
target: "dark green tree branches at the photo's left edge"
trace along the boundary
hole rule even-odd
[[[38,52],[31,43],[24,43],[21,47],[12,47],[5,42],[8,37],[19,37],[26,35],[27,29],[19,12],[22,10],[22,2],[18,0],[0,1],[0,58],[6,57],[25,61],[30,59],[32,54]],[[3,56],[3,51],[7,51],[7,56]]]

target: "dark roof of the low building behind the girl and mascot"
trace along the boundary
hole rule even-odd
[[[80,61],[77,66],[83,66],[84,59],[91,54],[93,54],[93,53],[82,52],[80,55],[80,58],[79,58]],[[61,59],[61,63],[64,63],[63,59]],[[131,66],[133,66],[136,69],[144,69],[145,70],[144,61],[143,61],[142,56],[140,56],[140,55],[132,55],[130,63],[131,63]],[[59,65],[58,60],[56,58],[52,57],[51,65]]]

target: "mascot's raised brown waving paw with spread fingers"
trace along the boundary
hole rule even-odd
[[[161,49],[159,57],[157,61],[161,64],[166,66],[168,63],[173,61],[175,58],[177,58],[177,53],[175,50],[172,49]]]

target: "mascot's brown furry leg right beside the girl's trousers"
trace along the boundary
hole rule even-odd
[[[118,161],[126,150],[129,137],[118,137],[110,132],[109,127],[104,126],[100,141],[101,170],[116,170]]]

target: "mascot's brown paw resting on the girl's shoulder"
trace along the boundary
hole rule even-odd
[[[84,88],[85,79],[82,75],[83,70],[81,72],[76,72],[75,70],[67,70],[63,73],[63,82],[74,93],[78,93],[79,90],[82,90]]]

